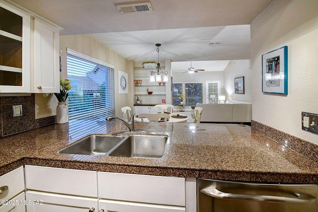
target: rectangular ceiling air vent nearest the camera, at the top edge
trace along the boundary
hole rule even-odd
[[[153,12],[150,1],[130,1],[115,3],[120,13]]]

